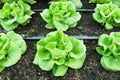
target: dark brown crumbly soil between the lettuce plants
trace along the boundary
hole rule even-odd
[[[32,5],[32,9],[47,8],[49,0],[45,1],[39,1],[39,3]],[[89,4],[88,0],[82,0],[82,2],[82,8],[92,9],[95,7],[94,4]],[[82,18],[77,27],[69,29],[65,33],[76,36],[99,36],[103,33],[109,34],[112,31],[120,31],[119,28],[105,30],[103,26],[92,19],[92,12],[80,12],[80,14]],[[30,24],[27,26],[20,25],[15,32],[23,37],[45,36],[48,32],[54,31],[46,29],[45,24],[39,13],[35,13]],[[0,32],[6,31],[0,27]],[[79,70],[69,69],[64,77],[54,77],[51,71],[42,71],[39,66],[34,65],[32,62],[36,53],[37,41],[26,42],[28,46],[26,53],[16,65],[6,68],[0,73],[0,80],[120,80],[120,72],[110,72],[101,67],[99,62],[101,56],[95,50],[97,40],[85,40],[87,57],[83,67]]]

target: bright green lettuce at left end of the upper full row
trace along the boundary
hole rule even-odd
[[[29,23],[33,13],[30,6],[21,0],[17,3],[5,3],[0,9],[0,23],[5,30],[11,31],[17,28],[19,24],[26,25]]]

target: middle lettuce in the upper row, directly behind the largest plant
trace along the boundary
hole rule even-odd
[[[69,27],[76,27],[81,15],[71,1],[52,1],[49,9],[40,13],[47,22],[46,28],[66,31]]]

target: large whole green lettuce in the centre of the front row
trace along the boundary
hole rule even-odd
[[[83,40],[68,37],[62,31],[48,33],[37,42],[33,63],[42,70],[52,70],[54,76],[64,76],[68,67],[79,69],[86,57]]]

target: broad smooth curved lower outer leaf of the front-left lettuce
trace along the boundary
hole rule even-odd
[[[10,42],[8,48],[8,55],[5,59],[0,60],[0,65],[5,67],[10,67],[18,62],[21,58],[21,50],[20,48],[13,42]]]

